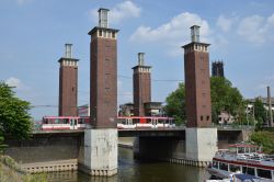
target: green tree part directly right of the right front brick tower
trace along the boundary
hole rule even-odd
[[[228,114],[244,120],[246,102],[237,88],[222,77],[210,78],[213,122],[218,123],[218,115],[226,111]]]

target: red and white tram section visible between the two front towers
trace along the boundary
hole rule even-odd
[[[137,129],[137,128],[170,128],[175,127],[173,117],[161,116],[119,116],[117,117],[118,129]]]

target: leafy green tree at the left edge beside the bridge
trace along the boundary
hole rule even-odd
[[[28,102],[16,98],[8,84],[0,82],[0,135],[28,138],[32,132],[30,109]]]

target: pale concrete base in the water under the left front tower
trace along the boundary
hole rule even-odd
[[[117,138],[116,128],[85,129],[83,171],[91,175],[116,174]]]

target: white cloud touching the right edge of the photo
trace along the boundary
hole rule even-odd
[[[237,33],[251,43],[274,41],[274,14],[269,18],[251,15],[240,21]]]

